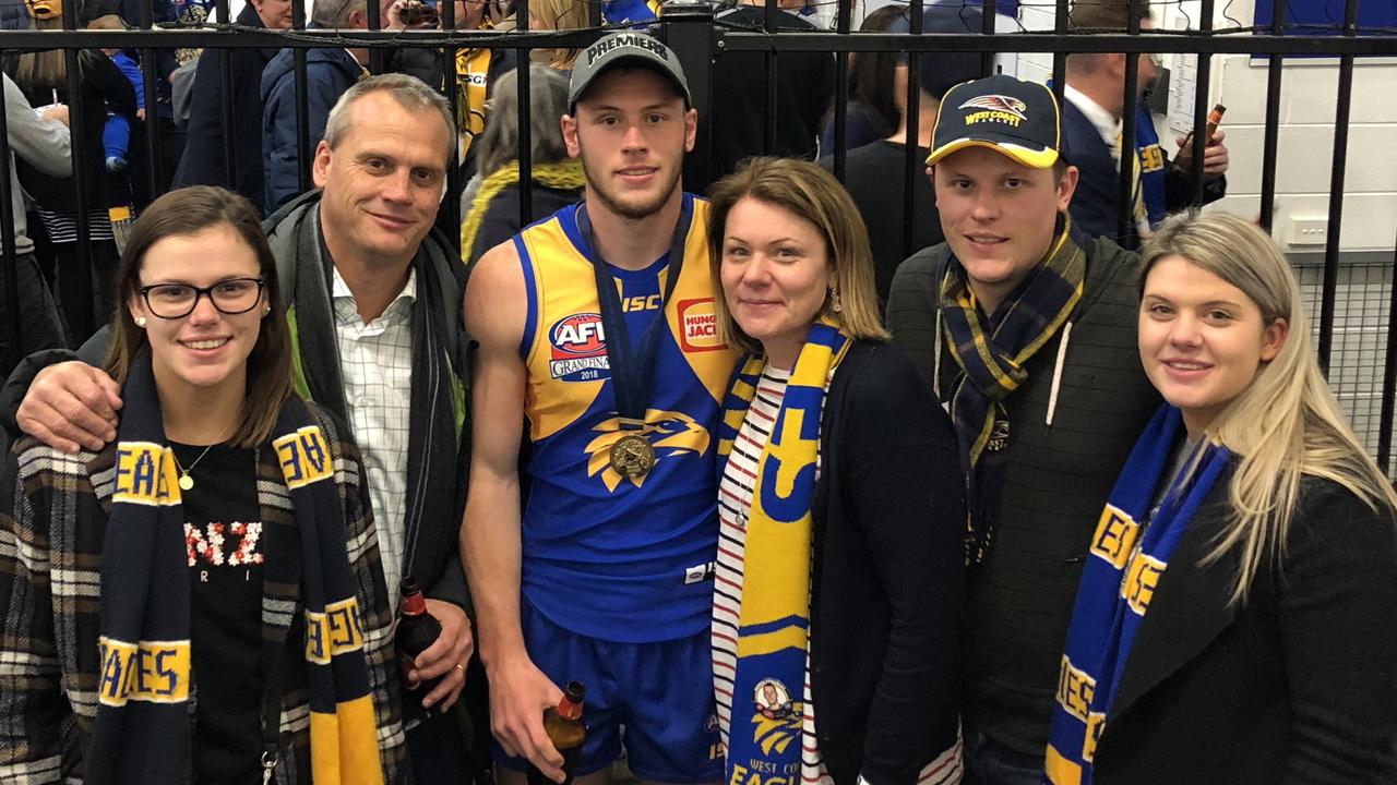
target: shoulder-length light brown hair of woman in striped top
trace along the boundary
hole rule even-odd
[[[833,175],[809,161],[792,158],[749,158],[738,170],[718,180],[708,194],[708,270],[718,281],[722,267],[722,237],[728,212],[743,198],[780,207],[809,221],[824,239],[826,257],[834,268],[840,310],[826,298],[821,314],[854,338],[887,341],[879,318],[873,288],[873,251],[869,232],[849,193]],[[718,337],[745,352],[760,353],[761,344],[742,331],[724,296],[714,298]]]

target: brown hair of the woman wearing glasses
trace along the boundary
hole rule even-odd
[[[141,263],[151,246],[166,239],[198,235],[215,226],[231,228],[257,256],[258,275],[267,282],[263,296],[271,311],[263,318],[257,344],[247,355],[247,395],[232,441],[256,447],[271,437],[281,405],[291,397],[291,330],[277,285],[277,257],[261,229],[257,208],[246,197],[215,186],[190,186],[166,193],[151,203],[131,226],[131,236],[116,268],[117,307],[112,317],[112,349],[106,372],[126,381],[131,360],[147,344],[145,331],[136,325],[127,307],[140,296]]]

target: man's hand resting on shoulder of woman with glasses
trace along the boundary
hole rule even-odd
[[[20,402],[20,429],[63,453],[101,450],[116,439],[122,387],[80,360],[52,365],[34,377]]]

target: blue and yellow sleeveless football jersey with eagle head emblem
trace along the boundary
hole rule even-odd
[[[685,260],[665,306],[645,427],[655,467],[623,478],[609,464],[616,413],[597,282],[576,207],[524,229],[515,247],[528,291],[520,353],[532,457],[521,536],[524,599],[584,636],[645,643],[703,631],[718,541],[714,426],[736,355],[718,341],[708,274],[708,204],[683,197]],[[661,307],[668,253],[644,270],[612,267],[631,342]]]

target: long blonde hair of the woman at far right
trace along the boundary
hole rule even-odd
[[[1231,601],[1245,602],[1257,574],[1285,553],[1302,475],[1333,480],[1373,510],[1397,511],[1397,494],[1338,409],[1315,359],[1299,285],[1264,232],[1227,212],[1175,215],[1141,256],[1141,291],[1155,263],[1183,257],[1241,289],[1263,324],[1284,318],[1288,325],[1275,358],[1206,429],[1238,457],[1228,487],[1232,517],[1206,562],[1238,552]]]

